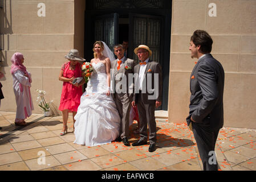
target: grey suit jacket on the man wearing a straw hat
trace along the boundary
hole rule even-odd
[[[140,64],[135,66],[134,73],[137,74],[137,77],[135,77],[135,94],[133,95],[133,101],[136,103],[139,91]],[[158,77],[158,81],[155,80],[155,73],[156,77]],[[144,72],[143,88],[146,91],[142,97],[145,104],[155,104],[156,101],[162,101],[162,68],[159,63],[152,60],[148,61]],[[151,89],[153,89],[153,92]]]

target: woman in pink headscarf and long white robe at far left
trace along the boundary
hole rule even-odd
[[[30,87],[31,87],[31,74],[27,72],[26,67],[23,65],[24,57],[22,53],[16,52],[11,57],[11,75],[13,75],[13,90],[16,98],[17,111],[16,111],[16,126],[25,126],[25,119],[30,117],[34,106],[32,103]]]

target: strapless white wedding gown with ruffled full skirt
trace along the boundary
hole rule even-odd
[[[75,115],[76,144],[97,146],[119,136],[120,117],[111,95],[107,96],[107,75],[103,63],[92,63],[94,71]]]

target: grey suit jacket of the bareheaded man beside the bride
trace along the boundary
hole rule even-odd
[[[124,63],[121,64],[120,69],[117,70],[117,60],[112,61],[111,63],[111,69],[113,69],[112,73],[112,81],[115,83],[115,93],[124,95],[126,94],[129,98],[133,96],[133,80],[131,79],[129,81],[129,77],[131,78],[134,72],[134,67],[135,67],[135,61],[129,58],[125,57]],[[123,80],[123,76],[126,77],[126,80]],[[125,86],[125,84],[126,86]],[[125,88],[123,88],[125,86]],[[119,88],[116,88],[119,87]],[[129,90],[129,88],[131,88]],[[118,90],[121,91],[118,92]],[[117,91],[117,92],[116,92]]]

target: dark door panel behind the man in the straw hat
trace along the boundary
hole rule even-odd
[[[138,61],[137,55],[133,50],[141,44],[147,45],[152,50],[152,56],[149,58],[160,63],[162,68],[166,67],[164,54],[164,17],[148,14],[129,14],[129,55],[133,55],[132,59]],[[168,59],[169,61],[169,59]],[[169,64],[167,64],[169,65]],[[169,71],[169,69],[167,70]],[[169,74],[162,69],[163,80],[169,80]],[[167,85],[166,85],[167,84]],[[162,105],[157,110],[168,109],[168,85],[163,81]]]

